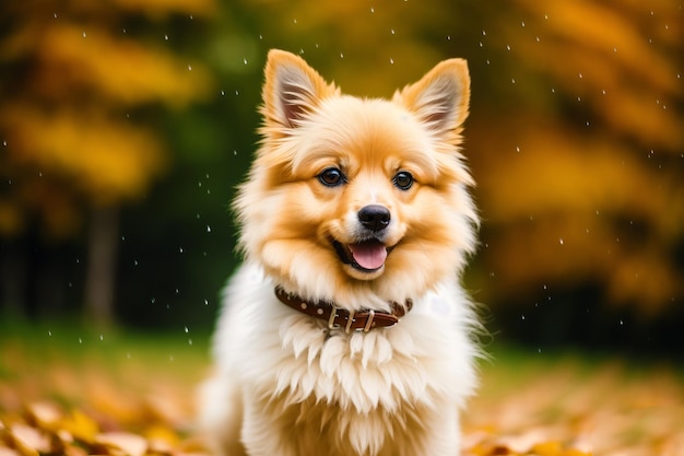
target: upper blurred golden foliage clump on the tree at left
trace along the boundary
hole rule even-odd
[[[43,33],[38,46],[45,67],[37,85],[46,96],[69,98],[68,89],[86,86],[113,105],[158,101],[180,107],[205,95],[210,86],[200,65],[131,39],[115,39],[107,32],[54,26]],[[54,80],[56,74],[60,77]]]

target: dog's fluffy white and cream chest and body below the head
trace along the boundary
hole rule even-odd
[[[475,325],[456,280],[391,328],[328,334],[258,267],[225,290],[201,424],[226,456],[456,456]]]

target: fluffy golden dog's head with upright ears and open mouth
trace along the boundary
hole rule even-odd
[[[450,59],[391,101],[362,100],[272,50],[262,143],[235,202],[247,259],[350,309],[458,274],[475,245],[458,152],[469,85],[465,61]]]

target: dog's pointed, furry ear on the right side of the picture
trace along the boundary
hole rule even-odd
[[[394,94],[394,101],[415,113],[439,136],[458,132],[468,117],[470,75],[463,59],[439,62],[418,82]]]

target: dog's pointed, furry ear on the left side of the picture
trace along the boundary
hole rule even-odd
[[[303,58],[271,49],[266,65],[262,113],[267,127],[296,128],[334,86],[309,67]]]

